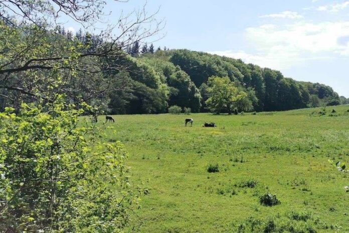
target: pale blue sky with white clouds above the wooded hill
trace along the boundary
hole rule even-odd
[[[113,23],[145,1],[107,1]],[[166,22],[155,47],[190,49],[280,70],[296,80],[327,84],[349,97],[349,1],[148,0]],[[99,25],[103,27],[103,25]],[[68,22],[72,31],[78,29]],[[161,35],[162,35],[161,34]]]

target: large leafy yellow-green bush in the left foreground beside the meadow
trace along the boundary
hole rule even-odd
[[[63,99],[0,113],[2,232],[119,232],[137,207],[123,145],[98,143]]]

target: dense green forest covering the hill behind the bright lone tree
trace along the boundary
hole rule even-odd
[[[6,27],[4,25],[3,27]],[[21,40],[21,36],[13,38]],[[81,44],[79,52],[95,51],[108,46],[108,42],[98,35],[81,29],[73,35],[64,27],[58,27],[55,34],[45,35],[42,40],[50,41],[51,49],[56,51],[63,44]],[[67,86],[79,86],[79,91],[70,92],[69,88],[62,93],[76,102],[77,96],[88,98],[88,103],[101,107],[101,110],[112,114],[165,113],[168,107],[178,105],[190,108],[192,112],[207,112],[212,109],[206,101],[210,97],[208,81],[210,77],[227,77],[239,92],[246,93],[243,106],[233,106],[241,111],[279,111],[326,105],[348,103],[344,96],[339,96],[331,87],[320,83],[296,81],[284,77],[277,70],[261,68],[246,64],[240,59],[221,57],[204,52],[185,49],[158,47],[153,44],[140,46],[135,41],[124,47],[119,53],[118,61],[113,59],[97,60],[98,66],[122,66],[122,69],[108,70],[103,74],[70,80]],[[59,52],[69,53],[69,47]],[[87,65],[87,64],[86,64]],[[96,65],[96,64],[94,64]],[[33,91],[33,83],[26,83],[19,77],[11,77],[14,86],[8,83],[1,86],[0,106],[11,105],[16,108],[26,95]],[[122,88],[120,88],[122,87]],[[93,96],[91,95],[94,90]],[[33,100],[33,99],[32,99]],[[223,112],[228,110],[223,108]]]

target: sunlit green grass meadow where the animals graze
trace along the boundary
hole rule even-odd
[[[138,212],[141,232],[237,232],[249,217],[349,232],[349,174],[328,163],[349,162],[348,109],[117,115],[116,133],[105,133],[107,141],[125,144],[132,184],[149,190]],[[184,127],[187,117],[193,127]],[[218,127],[203,128],[204,122]],[[210,164],[219,172],[209,173]],[[256,186],[239,187],[249,180]],[[267,192],[281,203],[261,205]]]

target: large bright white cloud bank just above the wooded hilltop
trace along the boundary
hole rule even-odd
[[[262,25],[247,28],[245,33],[252,53],[231,50],[211,53],[281,70],[309,60],[349,56],[349,22]]]

